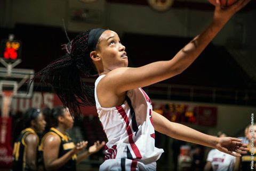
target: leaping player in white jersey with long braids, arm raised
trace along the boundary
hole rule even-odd
[[[241,156],[239,153],[247,150],[244,148],[246,145],[236,138],[216,138],[168,121],[152,110],[151,101],[141,87],[169,79],[187,69],[231,16],[248,2],[240,0],[222,9],[217,0],[209,27],[177,55],[170,57],[170,61],[127,67],[128,57],[117,33],[93,29],[80,33],[66,45],[65,56],[39,72],[41,81],[50,83],[73,113],[80,112],[77,112],[80,105],[93,104],[95,98],[108,138],[106,160],[100,170],[156,170],[155,161],[163,150],[155,148],[155,130],[175,139],[217,148],[233,156]],[[94,97],[94,89],[82,81],[83,76],[92,75],[99,75],[95,81]]]

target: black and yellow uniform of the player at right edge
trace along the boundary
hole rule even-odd
[[[248,148],[248,146],[247,146]],[[249,151],[241,157],[241,170],[242,171],[255,171],[256,170],[256,156],[255,156],[256,151]]]

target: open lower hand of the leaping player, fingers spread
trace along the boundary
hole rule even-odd
[[[241,154],[245,154],[249,150],[246,148],[247,144],[241,143],[241,141],[237,138],[221,137],[216,145],[216,149],[235,157],[241,157]]]

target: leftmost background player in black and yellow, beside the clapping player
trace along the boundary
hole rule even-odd
[[[46,122],[41,110],[28,109],[22,120],[26,129],[22,130],[13,147],[13,171],[38,170],[38,144],[37,133],[42,133]]]

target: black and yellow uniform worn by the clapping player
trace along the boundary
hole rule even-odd
[[[59,149],[59,155],[58,158],[60,158],[61,156],[65,155],[65,153],[67,153],[68,151],[70,151],[71,149],[73,149],[75,147],[74,142],[72,141],[72,139],[70,138],[70,136],[68,135],[68,133],[66,133],[66,135],[62,134],[60,131],[58,131],[57,129],[55,129],[54,127],[52,127],[50,129],[49,132],[47,132],[40,144],[39,149],[43,150],[43,142],[46,138],[46,136],[48,135],[55,135],[58,136],[60,138],[60,149]],[[47,152],[47,151],[43,151],[43,152]],[[63,165],[59,170],[70,170],[70,171],[75,171],[76,170],[76,155],[73,155],[71,157],[70,160],[68,160],[68,162]]]

